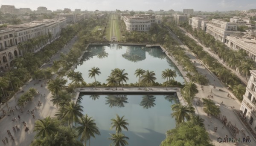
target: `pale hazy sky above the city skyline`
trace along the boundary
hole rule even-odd
[[[15,8],[36,10],[45,6],[48,10],[70,8],[95,11],[98,10],[134,10],[134,11],[229,11],[256,9],[256,0],[0,0],[2,5],[14,5]]]

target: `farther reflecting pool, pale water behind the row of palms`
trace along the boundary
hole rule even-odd
[[[94,79],[88,77],[88,70],[92,67],[98,67],[101,74],[96,75],[96,80],[101,83],[107,83],[106,79],[112,69],[125,69],[128,73],[127,83],[136,83],[138,78],[134,75],[136,69],[144,69],[154,71],[157,77],[156,82],[163,83],[162,71],[165,69],[175,70],[177,80],[184,83],[184,79],[180,74],[175,64],[166,56],[160,47],[145,47],[145,46],[122,46],[111,44],[108,46],[89,46],[88,52],[76,66],[75,71],[83,74],[84,81],[93,83]]]

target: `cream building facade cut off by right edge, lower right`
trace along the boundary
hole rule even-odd
[[[250,70],[250,74],[240,112],[251,129],[256,132],[256,70]]]

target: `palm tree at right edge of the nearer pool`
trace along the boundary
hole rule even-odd
[[[195,108],[192,106],[182,106],[181,104],[174,104],[171,106],[172,111],[172,117],[175,117],[176,124],[179,125],[182,122],[185,122],[186,120],[190,120],[190,114],[195,113]]]

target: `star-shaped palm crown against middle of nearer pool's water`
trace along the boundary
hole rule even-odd
[[[128,128],[126,127],[126,125],[129,125],[129,123],[127,123],[127,120],[123,120],[122,116],[121,118],[119,117],[119,115],[116,114],[116,118],[115,119],[111,119],[112,123],[111,123],[111,127],[110,129],[113,129],[114,127],[116,127],[116,134],[119,134],[122,132],[122,128],[128,131]]]

